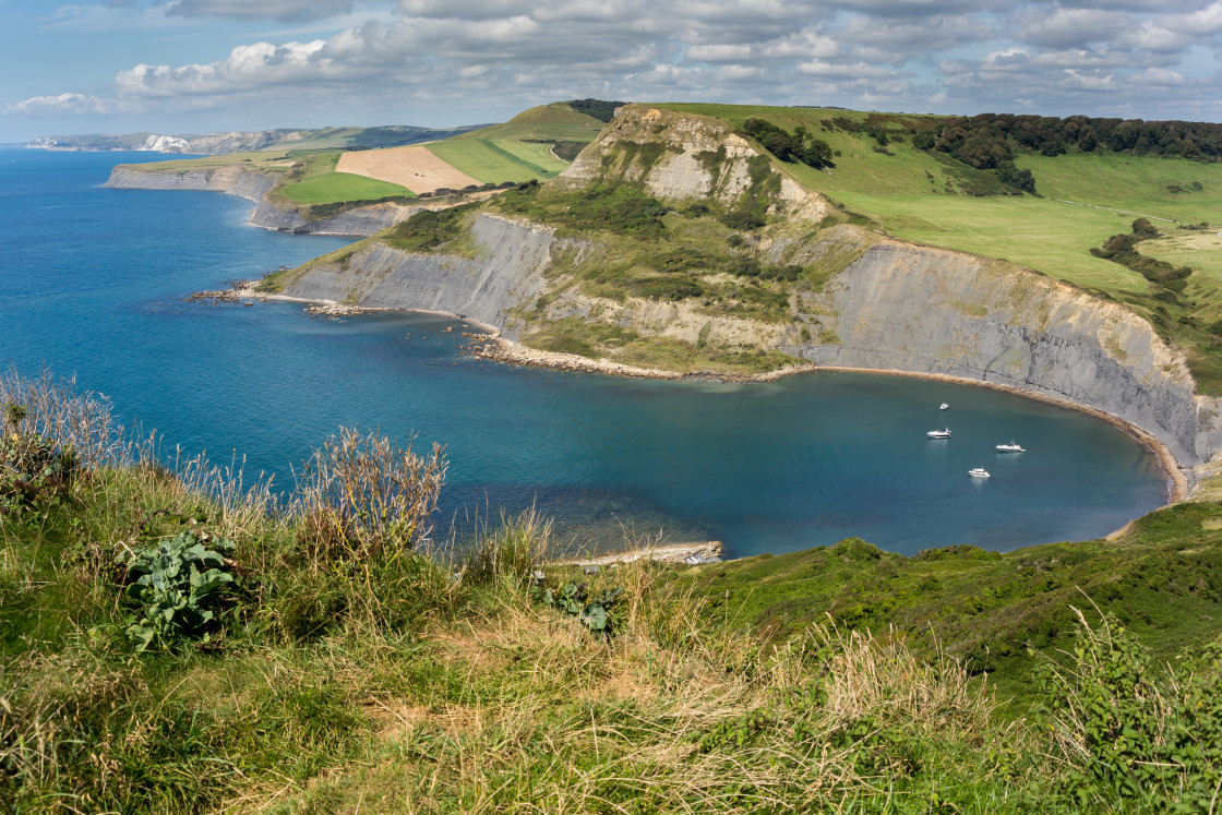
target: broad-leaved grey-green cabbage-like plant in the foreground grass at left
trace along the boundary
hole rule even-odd
[[[126,634],[137,651],[211,640],[218,615],[238,610],[233,562],[225,557],[233,550],[230,540],[183,532],[115,557],[126,571],[126,600],[134,607]]]

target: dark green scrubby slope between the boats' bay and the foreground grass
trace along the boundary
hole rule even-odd
[[[731,619],[777,637],[830,615],[852,628],[913,638],[931,632],[975,673],[1029,701],[1028,645],[1055,648],[1069,606],[1094,601],[1163,660],[1222,633],[1222,505],[1154,512],[1116,541],[1031,546],[998,555],[970,546],[916,557],[864,541],[689,568],[686,583]],[[727,595],[728,593],[728,595]]]

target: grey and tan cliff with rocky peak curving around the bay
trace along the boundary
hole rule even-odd
[[[1119,417],[1187,466],[1222,447],[1220,401],[1196,393],[1182,353],[1146,320],[1014,264],[902,243],[848,224],[814,225],[833,216],[835,206],[758,156],[723,123],[629,106],[546,186],[551,192],[539,193],[541,203],[524,206],[563,224],[580,196],[613,183],[648,189],[675,206],[697,200],[725,211],[763,202],[785,217],[720,252],[755,258],[764,269],[800,265],[803,276],[791,285],[736,277],[701,261],[695,249],[688,257],[682,247],[659,244],[650,259],[640,241],[623,260],[616,253],[624,239],[606,231],[561,239],[557,227],[485,211],[472,220],[469,239],[453,242],[462,247],[457,252],[412,254],[374,238],[297,270],[285,293],[464,314],[551,351],[565,349],[557,337],[576,336],[587,348],[580,353],[628,364],[640,364],[624,351],[637,338],[637,347],[686,348],[689,360],[764,351],[819,365],[962,376]],[[576,197],[557,198],[565,191]],[[551,197],[543,200],[545,194]],[[672,224],[667,235],[681,227],[705,236],[720,228],[726,246],[711,216]],[[679,276],[666,271],[676,264]],[[681,277],[704,293],[648,293],[651,282]],[[771,305],[753,307],[752,292]],[[557,326],[578,334],[557,334]],[[612,335],[617,342],[598,338]]]

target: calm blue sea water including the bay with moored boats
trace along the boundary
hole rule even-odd
[[[334,323],[293,304],[180,302],[346,241],[246,226],[251,204],[229,196],[99,187],[114,164],[161,158],[0,150],[0,364],[75,371],[171,447],[244,455],[248,473],[285,484],[341,424],[414,433],[448,445],[442,525],[535,502],[565,539],[661,528],[733,556],[848,535],[909,554],[1088,539],[1166,497],[1119,430],[984,389],[524,370],[459,356],[462,325],[435,316]],[[954,437],[927,441],[943,423]],[[1029,452],[993,451],[1011,439]],[[969,478],[978,466],[992,478]]]

